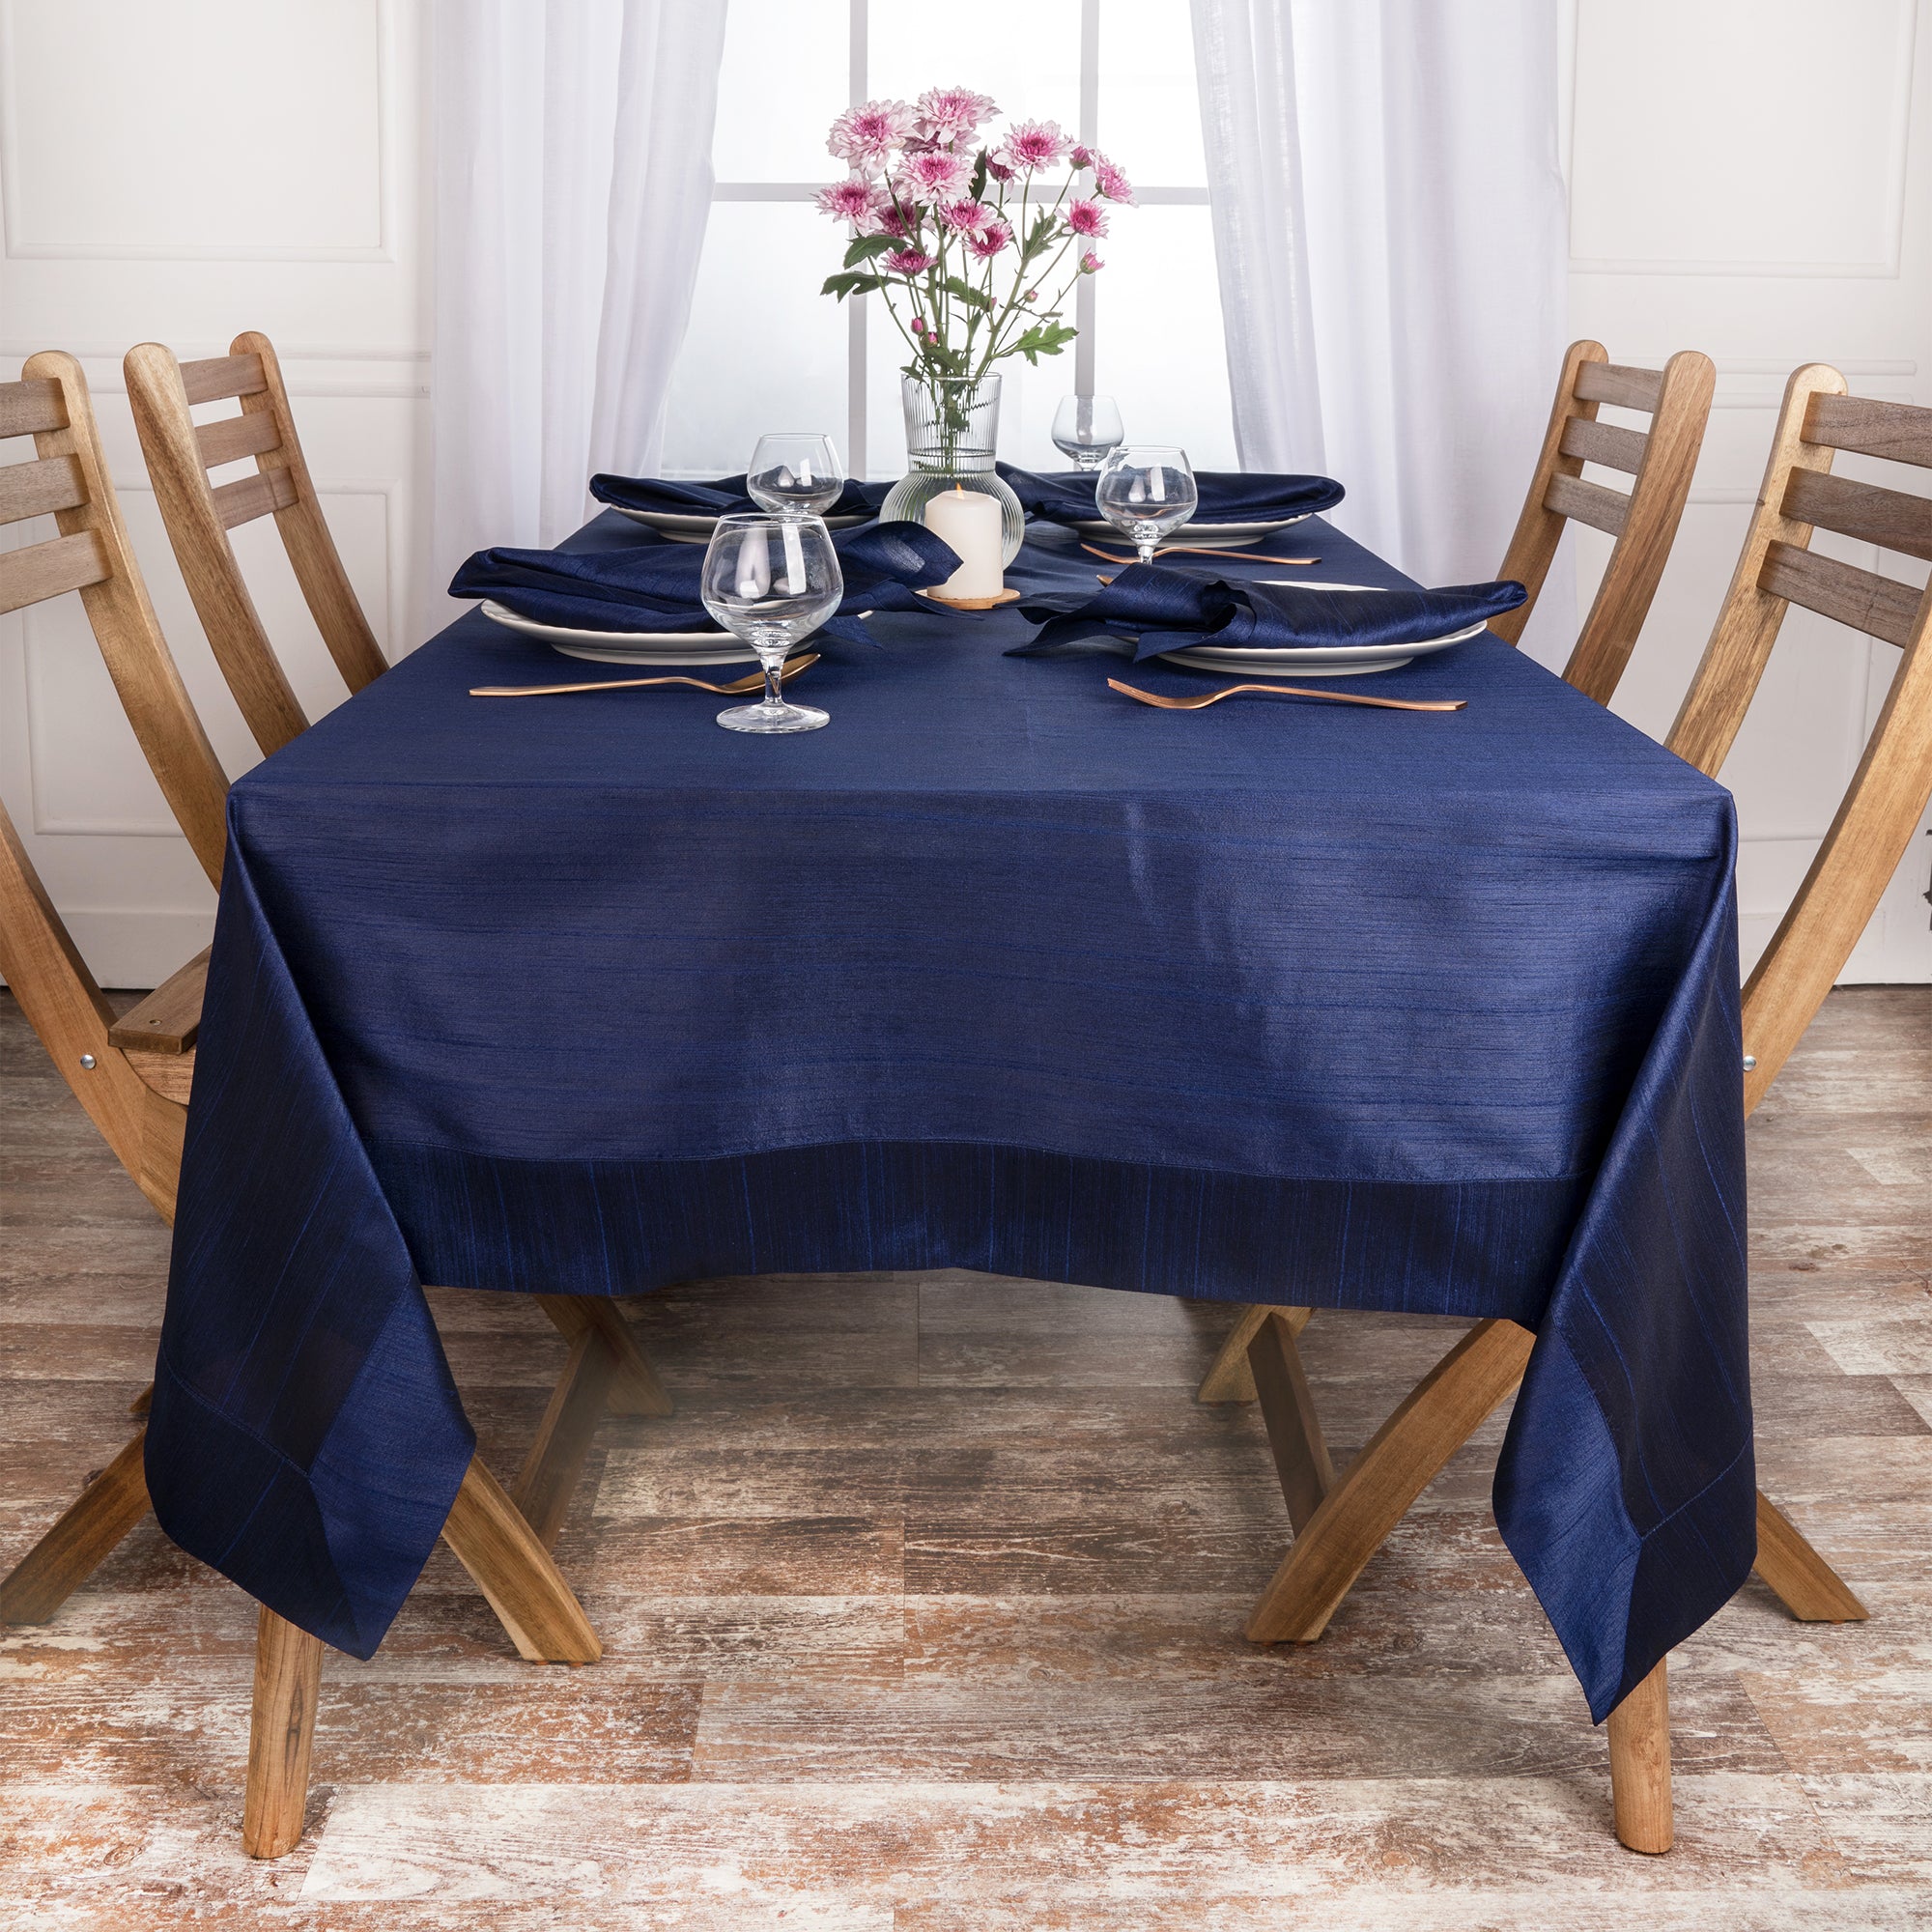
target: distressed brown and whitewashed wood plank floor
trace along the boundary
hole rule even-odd
[[[240,1851],[251,1605],[149,1520],[0,1640],[0,1926],[1851,1932],[1932,1926],[1932,989],[1835,993],[1752,1124],[1760,1474],[1874,1619],[1752,1584],[1677,1652],[1677,1851],[1609,1833],[1490,1522],[1501,1418],[1308,1650],[1225,1310],[964,1275],[638,1304],[558,1546],[605,1642],[516,1660],[439,1553],[330,1654],[309,1830]],[[0,1565],[128,1432],[166,1240],[0,995]],[[562,1345],[442,1294],[510,1472]],[[1453,1323],[1318,1316],[1331,1441]],[[1341,1453],[1337,1455],[1341,1461]]]

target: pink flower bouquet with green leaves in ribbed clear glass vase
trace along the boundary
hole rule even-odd
[[[910,352],[912,473],[879,514],[918,520],[943,489],[981,489],[1001,498],[1012,562],[1026,518],[993,469],[995,363],[1024,355],[1037,365],[1074,340],[1063,305],[1082,274],[1103,267],[1095,243],[1109,203],[1130,207],[1134,185],[1055,122],[1014,122],[983,139],[997,112],[970,87],[933,87],[918,104],[867,100],[840,114],[825,145],[852,172],[817,205],[852,230],[823,294],[883,294]]]

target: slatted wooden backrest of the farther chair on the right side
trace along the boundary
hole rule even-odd
[[[1598,703],[1609,703],[1617,690],[1669,560],[1714,383],[1710,357],[1696,350],[1681,350],[1663,369],[1613,363],[1602,342],[1573,342],[1563,357],[1542,454],[1497,572],[1515,578],[1530,595],[1490,630],[1505,643],[1522,638],[1567,520],[1615,537],[1596,601],[1563,668],[1563,676]],[[1648,413],[1648,433],[1600,423],[1600,404]],[[1633,479],[1629,495],[1588,481],[1584,464],[1621,469]]]

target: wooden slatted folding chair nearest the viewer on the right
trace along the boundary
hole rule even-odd
[[[1932,560],[1932,498],[1832,475],[1837,450],[1932,469],[1932,410],[1849,396],[1824,363],[1791,377],[1731,587],[1665,740],[1718,775],[1793,603],[1903,651],[1824,844],[1745,983],[1747,1115],[1810,1026],[1932,800],[1932,585],[1918,591],[1810,549],[1812,531],[1828,529]],[[1294,1345],[1306,1320],[1306,1310],[1254,1308],[1236,1325],[1294,1526],[1248,1625],[1260,1642],[1321,1634],[1408,1505],[1520,1381],[1532,1343],[1513,1321],[1476,1323],[1337,1480]],[[1866,1615],[1762,1492],[1756,1573],[1801,1621]],[[1638,1851],[1669,1845],[1665,1725],[1660,1663],[1609,1719],[1617,1833]]]

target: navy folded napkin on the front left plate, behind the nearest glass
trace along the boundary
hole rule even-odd
[[[641,535],[641,531],[639,531]],[[860,611],[923,611],[914,587],[945,583],[960,560],[923,524],[867,524],[833,537],[844,597],[819,636],[871,643]],[[622,551],[477,551],[452,597],[495,597],[518,616],[576,630],[705,630],[699,543],[643,541]]]

